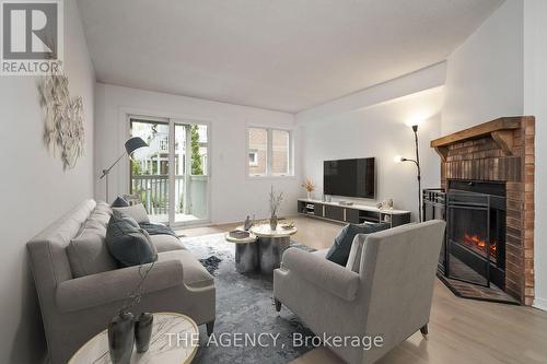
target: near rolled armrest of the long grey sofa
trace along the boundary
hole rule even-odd
[[[146,271],[148,266],[143,266],[142,270]],[[140,280],[138,266],[68,280],[57,287],[57,306],[60,312],[67,313],[123,301]],[[183,284],[182,262],[176,259],[156,261],[142,285],[142,294],[178,284]]]

